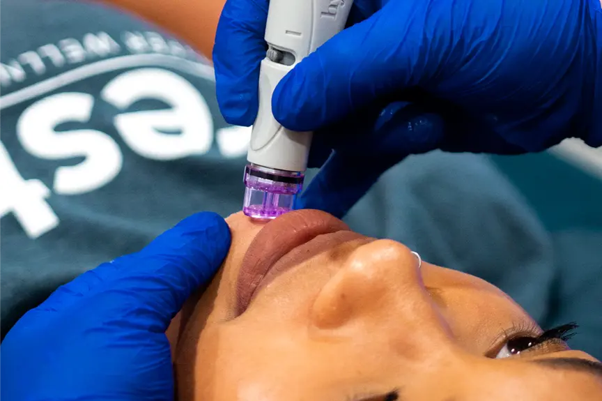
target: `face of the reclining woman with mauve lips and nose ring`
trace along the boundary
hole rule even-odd
[[[228,219],[221,273],[182,313],[180,400],[601,400],[591,356],[507,295],[319,211]]]

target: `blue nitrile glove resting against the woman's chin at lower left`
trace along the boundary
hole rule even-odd
[[[224,219],[198,213],[59,287],[0,345],[0,400],[173,400],[165,331],[229,247]]]

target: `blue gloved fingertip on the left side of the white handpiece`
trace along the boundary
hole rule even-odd
[[[267,20],[268,0],[228,0],[217,24],[213,46],[217,103],[233,125],[251,126],[257,115]]]

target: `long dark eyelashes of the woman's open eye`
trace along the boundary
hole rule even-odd
[[[495,340],[494,344],[497,344],[496,347],[493,347],[495,351],[488,352],[486,355],[488,358],[493,358],[495,355],[507,344],[507,342],[511,340],[516,340],[520,337],[527,337],[533,339],[533,345],[528,348],[528,350],[532,351],[534,349],[538,349],[540,347],[545,347],[549,345],[551,342],[566,342],[573,338],[576,334],[574,331],[578,328],[579,325],[576,322],[571,322],[567,324],[562,324],[560,326],[556,326],[550,328],[549,330],[543,331],[541,334],[534,334],[541,332],[541,329],[534,323],[528,324],[518,324],[510,328],[509,330],[505,330],[500,338]],[[527,351],[525,349],[525,351]]]

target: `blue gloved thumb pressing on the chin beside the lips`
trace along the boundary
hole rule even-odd
[[[186,218],[140,252],[102,264],[59,287],[38,310],[86,303],[95,314],[121,311],[164,332],[184,301],[213,277],[230,247],[230,230],[216,213]],[[93,306],[91,306],[93,305]],[[134,313],[135,311],[135,313]]]

